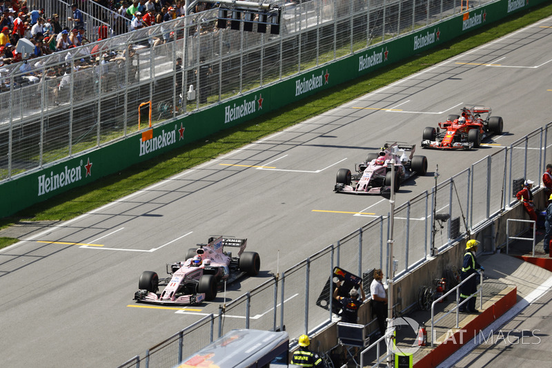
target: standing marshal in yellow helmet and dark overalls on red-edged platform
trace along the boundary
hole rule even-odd
[[[460,279],[462,281],[469,278],[473,273],[476,273],[478,269],[483,269],[479,263],[477,263],[477,258],[475,253],[477,253],[477,246],[479,242],[477,240],[468,240],[466,242],[466,253],[464,254],[464,262],[462,262],[462,273],[460,273]],[[477,284],[479,284],[479,278],[474,276],[468,281],[464,282],[460,287],[460,302],[463,302],[470,296],[473,296],[470,300],[462,304],[460,307],[461,312],[477,313],[475,309],[475,291],[477,291]]]

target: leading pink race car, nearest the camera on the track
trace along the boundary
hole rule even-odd
[[[217,298],[218,287],[243,275],[258,275],[261,259],[256,252],[245,252],[247,239],[209,238],[208,244],[188,249],[186,261],[167,264],[168,278],[144,271],[134,299],[153,304],[197,304]],[[237,256],[228,251],[237,248]],[[225,250],[226,248],[226,250]],[[164,286],[161,293],[157,293]]]

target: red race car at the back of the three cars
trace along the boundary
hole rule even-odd
[[[482,114],[484,117],[482,118]],[[491,108],[464,106],[460,115],[449,115],[439,128],[428,126],[422,135],[422,148],[469,150],[480,146],[482,139],[502,134],[502,117],[492,116]]]

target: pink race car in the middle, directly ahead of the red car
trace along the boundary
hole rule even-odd
[[[416,145],[386,143],[379,153],[368,153],[366,162],[355,164],[357,173],[348,168],[337,171],[334,191],[353,194],[391,193],[391,159],[395,159],[395,192],[413,175],[426,175],[427,159],[414,156]]]

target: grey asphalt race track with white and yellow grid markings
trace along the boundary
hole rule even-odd
[[[227,298],[242,295],[386,215],[382,197],[333,193],[337,169],[386,141],[420,146],[426,126],[463,104],[493,108],[504,134],[473,151],[418,148],[428,175],[404,183],[397,204],[429,190],[437,164],[445,180],[551,122],[551,43],[552,18],[0,251],[1,365],[114,367],[143,356],[224,300],[194,313],[136,307],[141,271],[163,277],[209,235],[248,238],[262,273]]]

